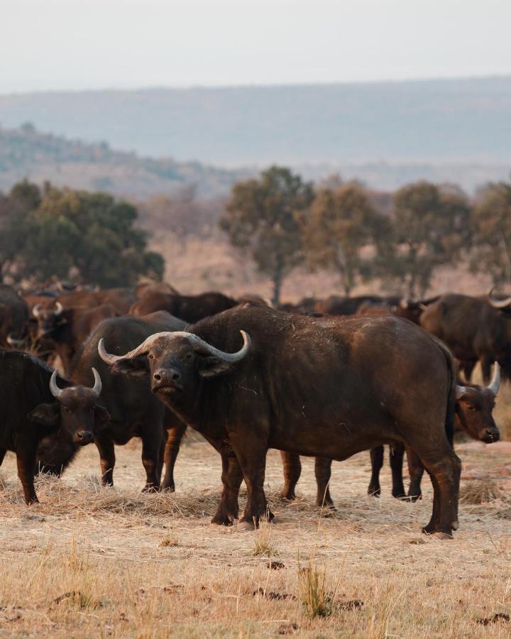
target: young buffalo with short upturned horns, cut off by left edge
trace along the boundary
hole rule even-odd
[[[0,350],[0,464],[8,450],[16,453],[18,477],[26,503],[38,501],[34,489],[35,456],[40,439],[65,429],[78,444],[94,441],[94,427],[109,419],[97,403],[101,379],[94,387],[57,386],[57,371],[20,351]]]

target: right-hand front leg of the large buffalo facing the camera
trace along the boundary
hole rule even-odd
[[[254,525],[257,527],[260,519],[272,520],[274,517],[268,508],[264,491],[268,445],[257,437],[257,432],[253,431],[248,437],[246,433],[243,435],[231,433],[230,439],[247,486],[246,508],[239,525],[243,530],[248,530]]]

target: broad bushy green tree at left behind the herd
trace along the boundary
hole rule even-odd
[[[44,282],[68,278],[102,286],[131,285],[139,275],[163,275],[163,258],[146,250],[144,231],[134,226],[136,208],[106,193],[57,189],[46,185],[39,197],[33,185],[16,185],[0,202],[11,219],[27,203],[11,254],[18,278]]]

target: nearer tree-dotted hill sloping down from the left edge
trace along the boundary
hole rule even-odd
[[[126,197],[148,197],[195,185],[198,195],[211,196],[228,191],[238,173],[198,162],[154,160],[113,151],[106,142],[68,140],[40,133],[30,124],[0,128],[0,190],[23,178]]]

